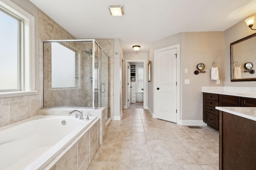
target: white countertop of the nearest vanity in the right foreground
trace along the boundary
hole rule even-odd
[[[256,107],[215,107],[218,110],[231,113],[246,119],[256,121]]]

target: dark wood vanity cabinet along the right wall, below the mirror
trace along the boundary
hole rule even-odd
[[[256,98],[203,93],[203,121],[219,130],[219,111],[215,107],[256,107]]]

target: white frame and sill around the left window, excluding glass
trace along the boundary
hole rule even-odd
[[[21,90],[0,92],[0,98],[38,94],[35,75],[35,18],[10,0],[0,0],[0,8],[22,20],[21,35]]]

